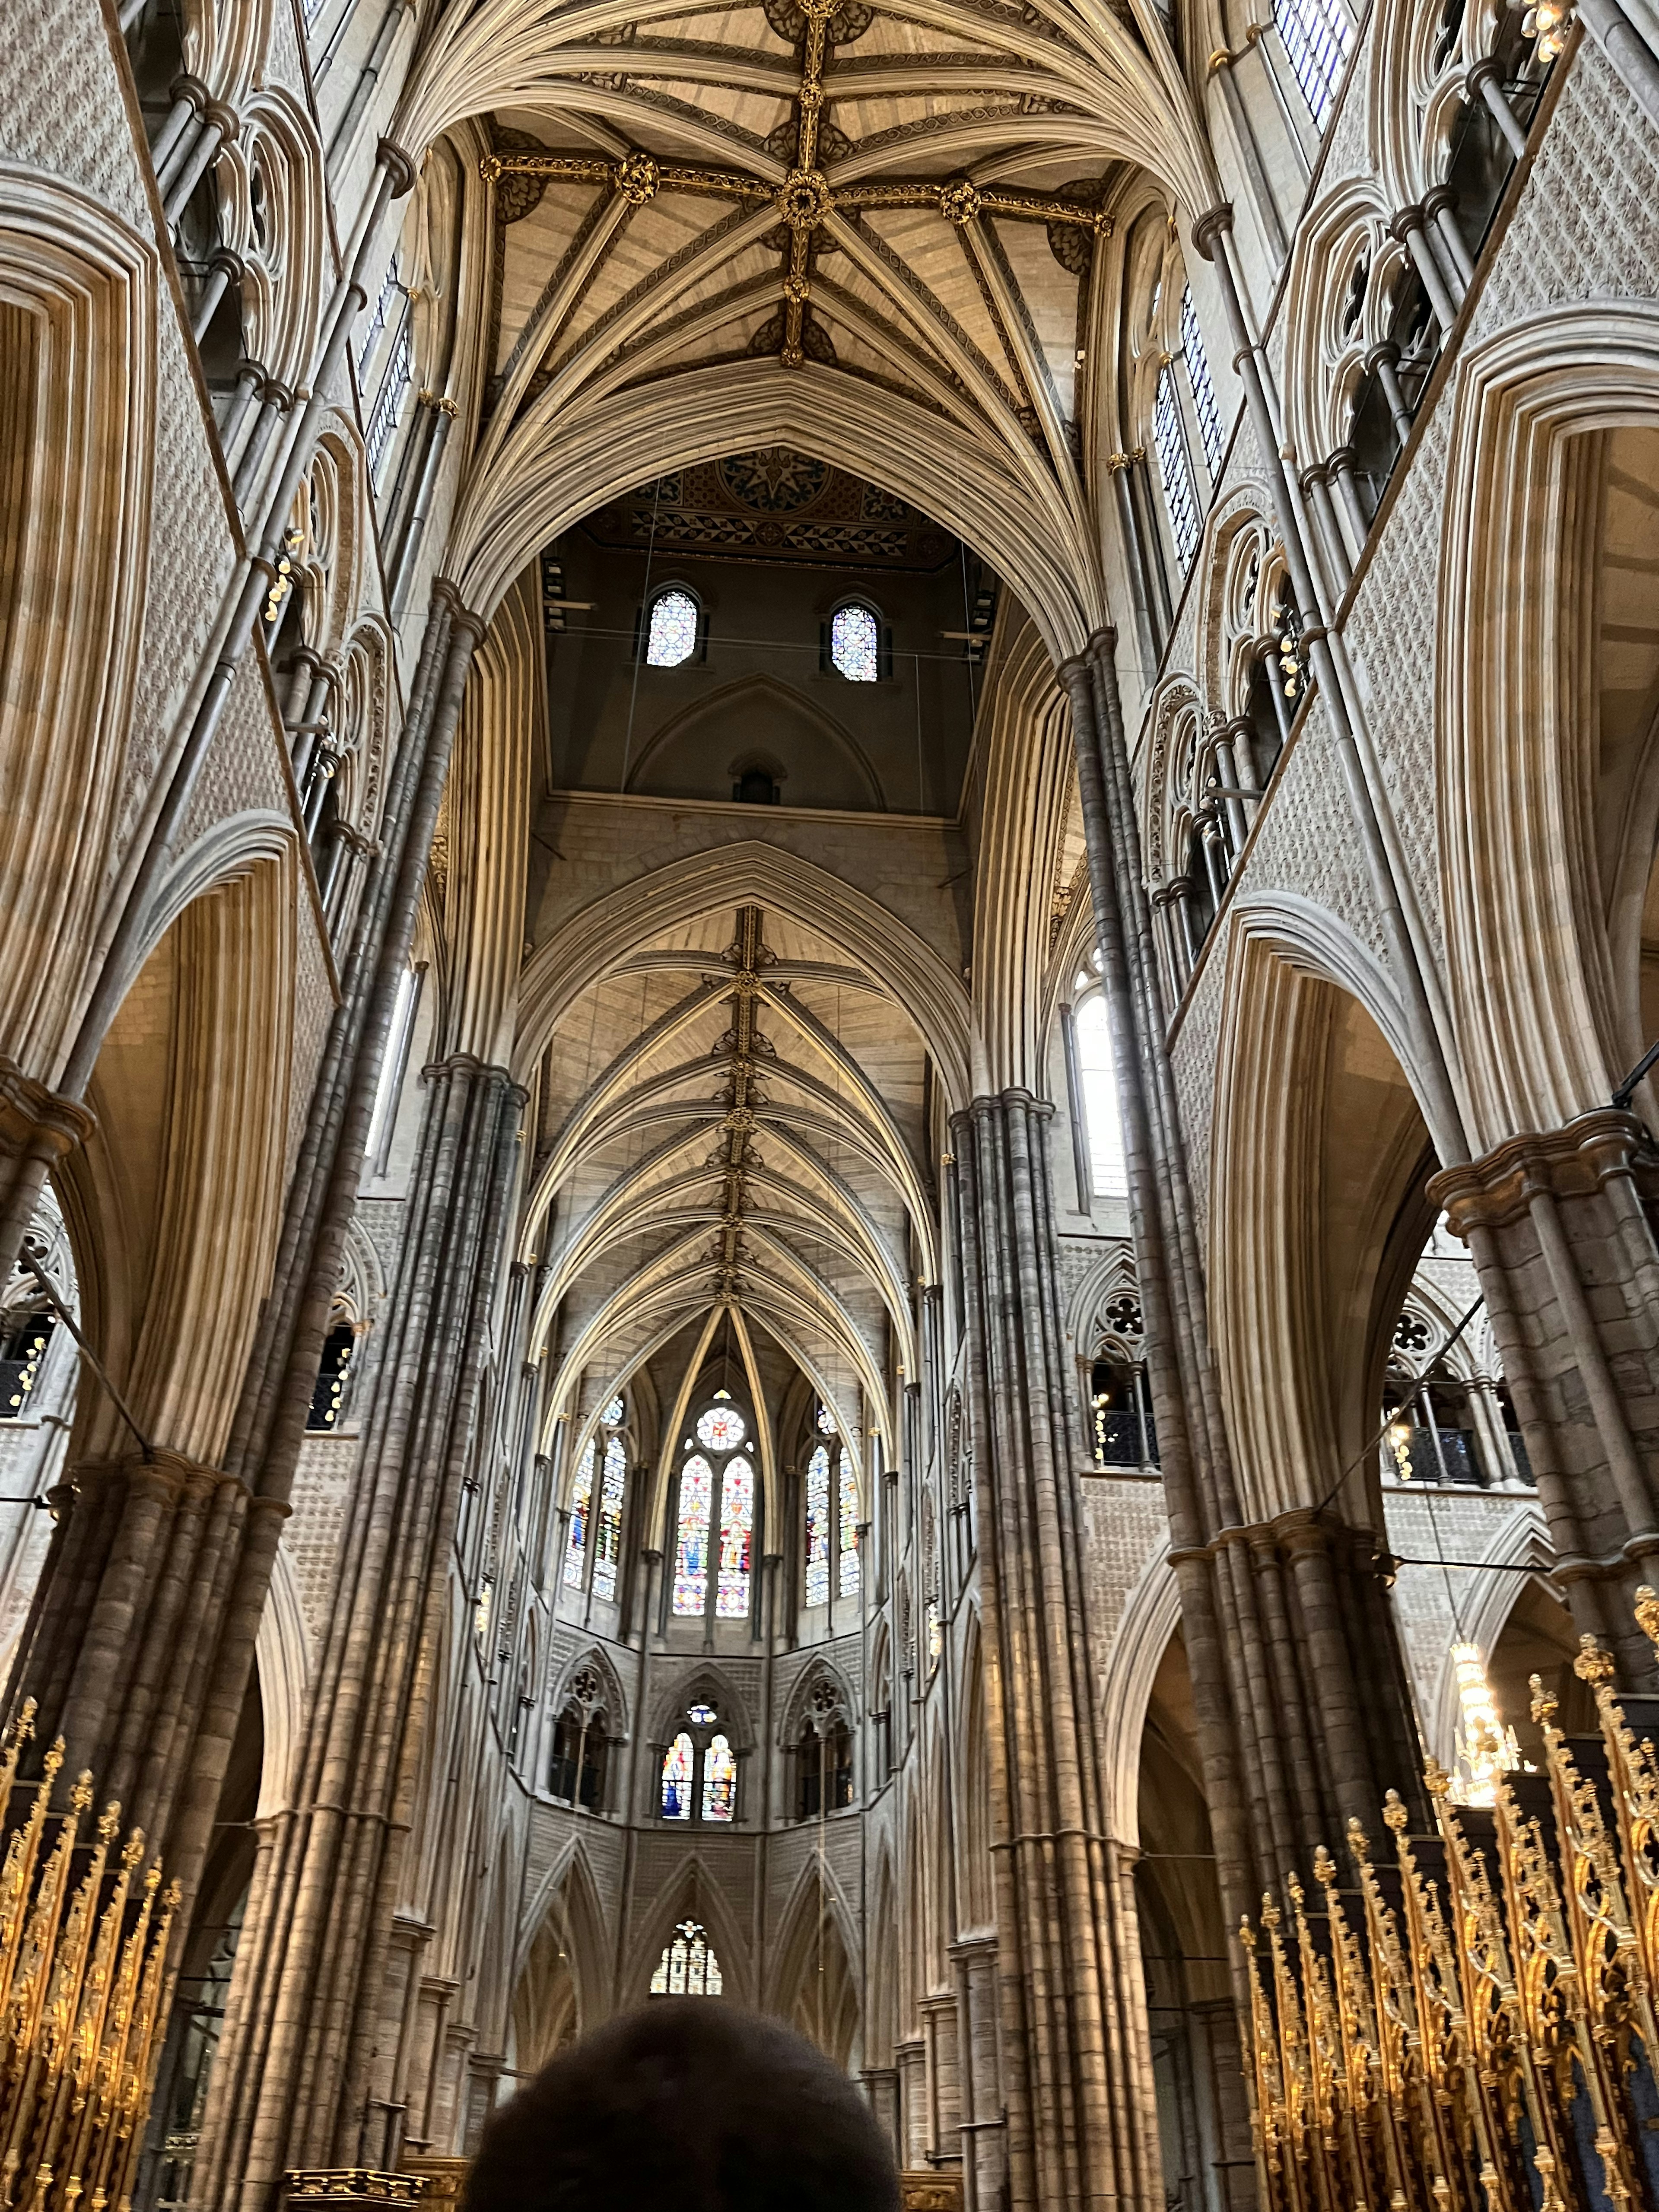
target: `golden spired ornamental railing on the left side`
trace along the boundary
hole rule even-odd
[[[18,1761],[33,1701],[0,1745],[0,1805],[29,1790]],[[93,1778],[51,1812],[62,1736],[0,1860],[0,2205],[126,2212],[166,2022],[161,1984],[179,1893],[139,1874],[139,1829],[115,1851],[122,1807],[82,1840]]]

